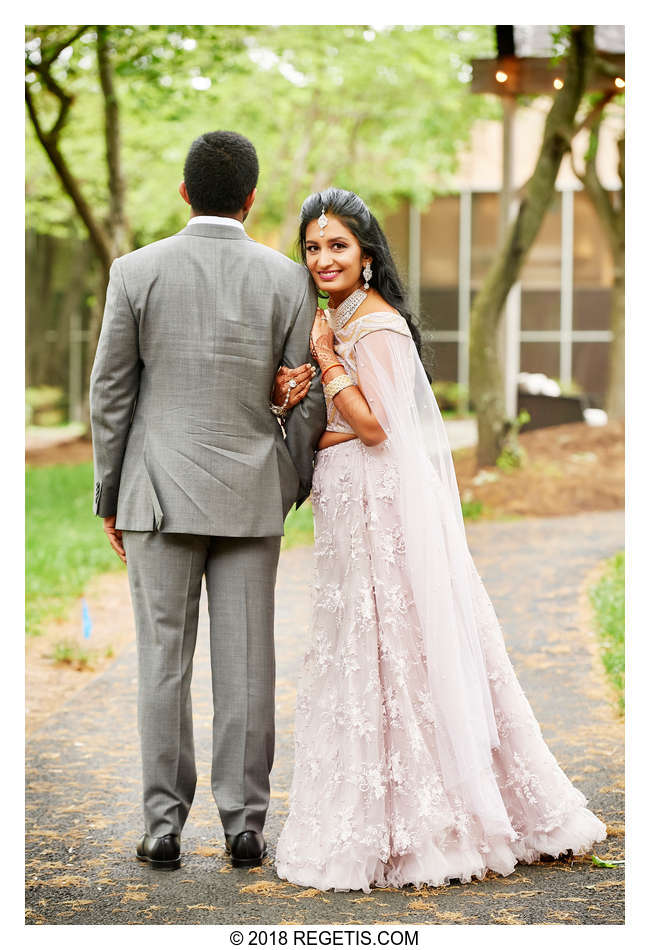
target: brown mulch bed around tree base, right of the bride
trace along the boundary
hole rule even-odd
[[[483,503],[482,516],[545,518],[625,507],[625,423],[584,422],[524,432],[524,465],[511,472],[478,469],[476,449],[454,452],[463,501]]]

